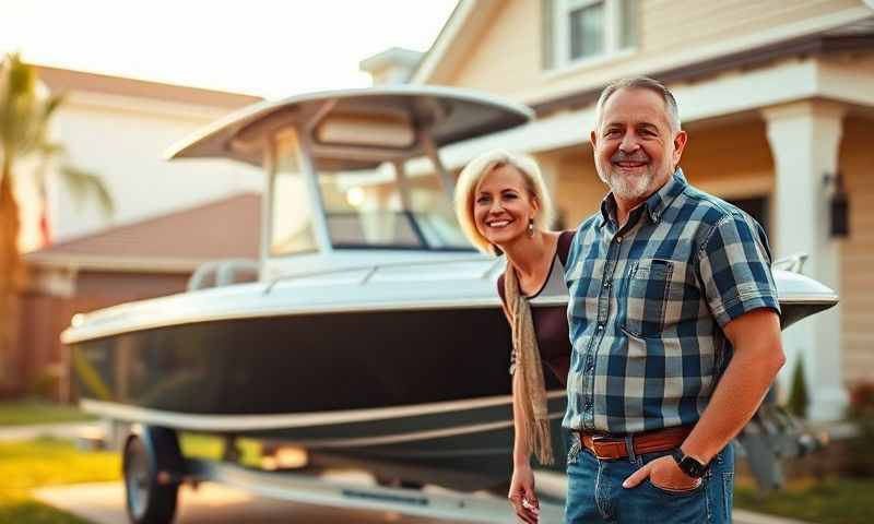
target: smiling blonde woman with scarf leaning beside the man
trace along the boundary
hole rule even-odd
[[[504,151],[471,162],[456,187],[456,214],[468,239],[481,251],[504,253],[498,279],[504,312],[512,331],[513,474],[510,501],[527,523],[538,522],[530,456],[552,462],[541,359],[567,381],[570,343],[565,308],[531,308],[542,295],[566,294],[564,264],[572,231],[546,229],[552,204],[540,168],[525,156]]]

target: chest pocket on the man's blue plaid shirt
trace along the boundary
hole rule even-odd
[[[673,276],[674,262],[668,260],[642,259],[629,270],[625,331],[639,337],[661,334]]]

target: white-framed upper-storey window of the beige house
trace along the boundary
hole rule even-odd
[[[554,9],[554,67],[609,57],[637,44],[637,0],[547,1]]]

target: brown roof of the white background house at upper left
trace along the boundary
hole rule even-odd
[[[39,80],[51,91],[134,96],[165,102],[236,109],[261,102],[259,96],[163,84],[144,80],[36,66]]]

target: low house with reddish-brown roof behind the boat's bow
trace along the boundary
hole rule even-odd
[[[43,383],[47,393],[69,400],[60,334],[75,313],[185,291],[192,273],[209,261],[255,261],[260,224],[261,195],[241,193],[27,253],[22,353],[14,359],[22,382]],[[238,276],[255,279],[257,273]]]

